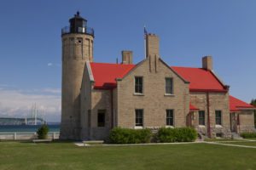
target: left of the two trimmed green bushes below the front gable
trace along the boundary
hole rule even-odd
[[[112,144],[143,144],[149,143],[151,136],[149,129],[114,127],[109,134],[109,140]]]

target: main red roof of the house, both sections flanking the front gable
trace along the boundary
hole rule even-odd
[[[135,65],[121,65],[109,63],[90,63],[91,71],[95,79],[94,88],[115,88],[116,78],[123,78]],[[176,67],[172,69],[178,75],[189,81],[190,91],[214,91],[226,92],[224,85],[218,81],[211,71],[201,68]]]

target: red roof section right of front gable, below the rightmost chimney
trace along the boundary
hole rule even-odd
[[[189,81],[190,91],[212,91],[226,92],[224,85],[218,81],[218,78],[212,74],[212,71],[207,71],[201,68],[177,67],[172,66],[172,69],[177,72],[183,79]]]

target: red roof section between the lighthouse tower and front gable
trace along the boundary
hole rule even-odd
[[[135,65],[120,65],[109,63],[90,63],[95,80],[94,88],[115,88],[116,78],[124,77]]]

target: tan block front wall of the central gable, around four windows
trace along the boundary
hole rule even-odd
[[[143,94],[135,94],[134,79],[143,77]],[[173,78],[173,95],[166,95],[166,77]],[[157,57],[148,57],[117,82],[117,126],[135,127],[135,110],[143,109],[143,127],[166,127],[166,110],[174,110],[174,127],[186,126],[189,84]]]

